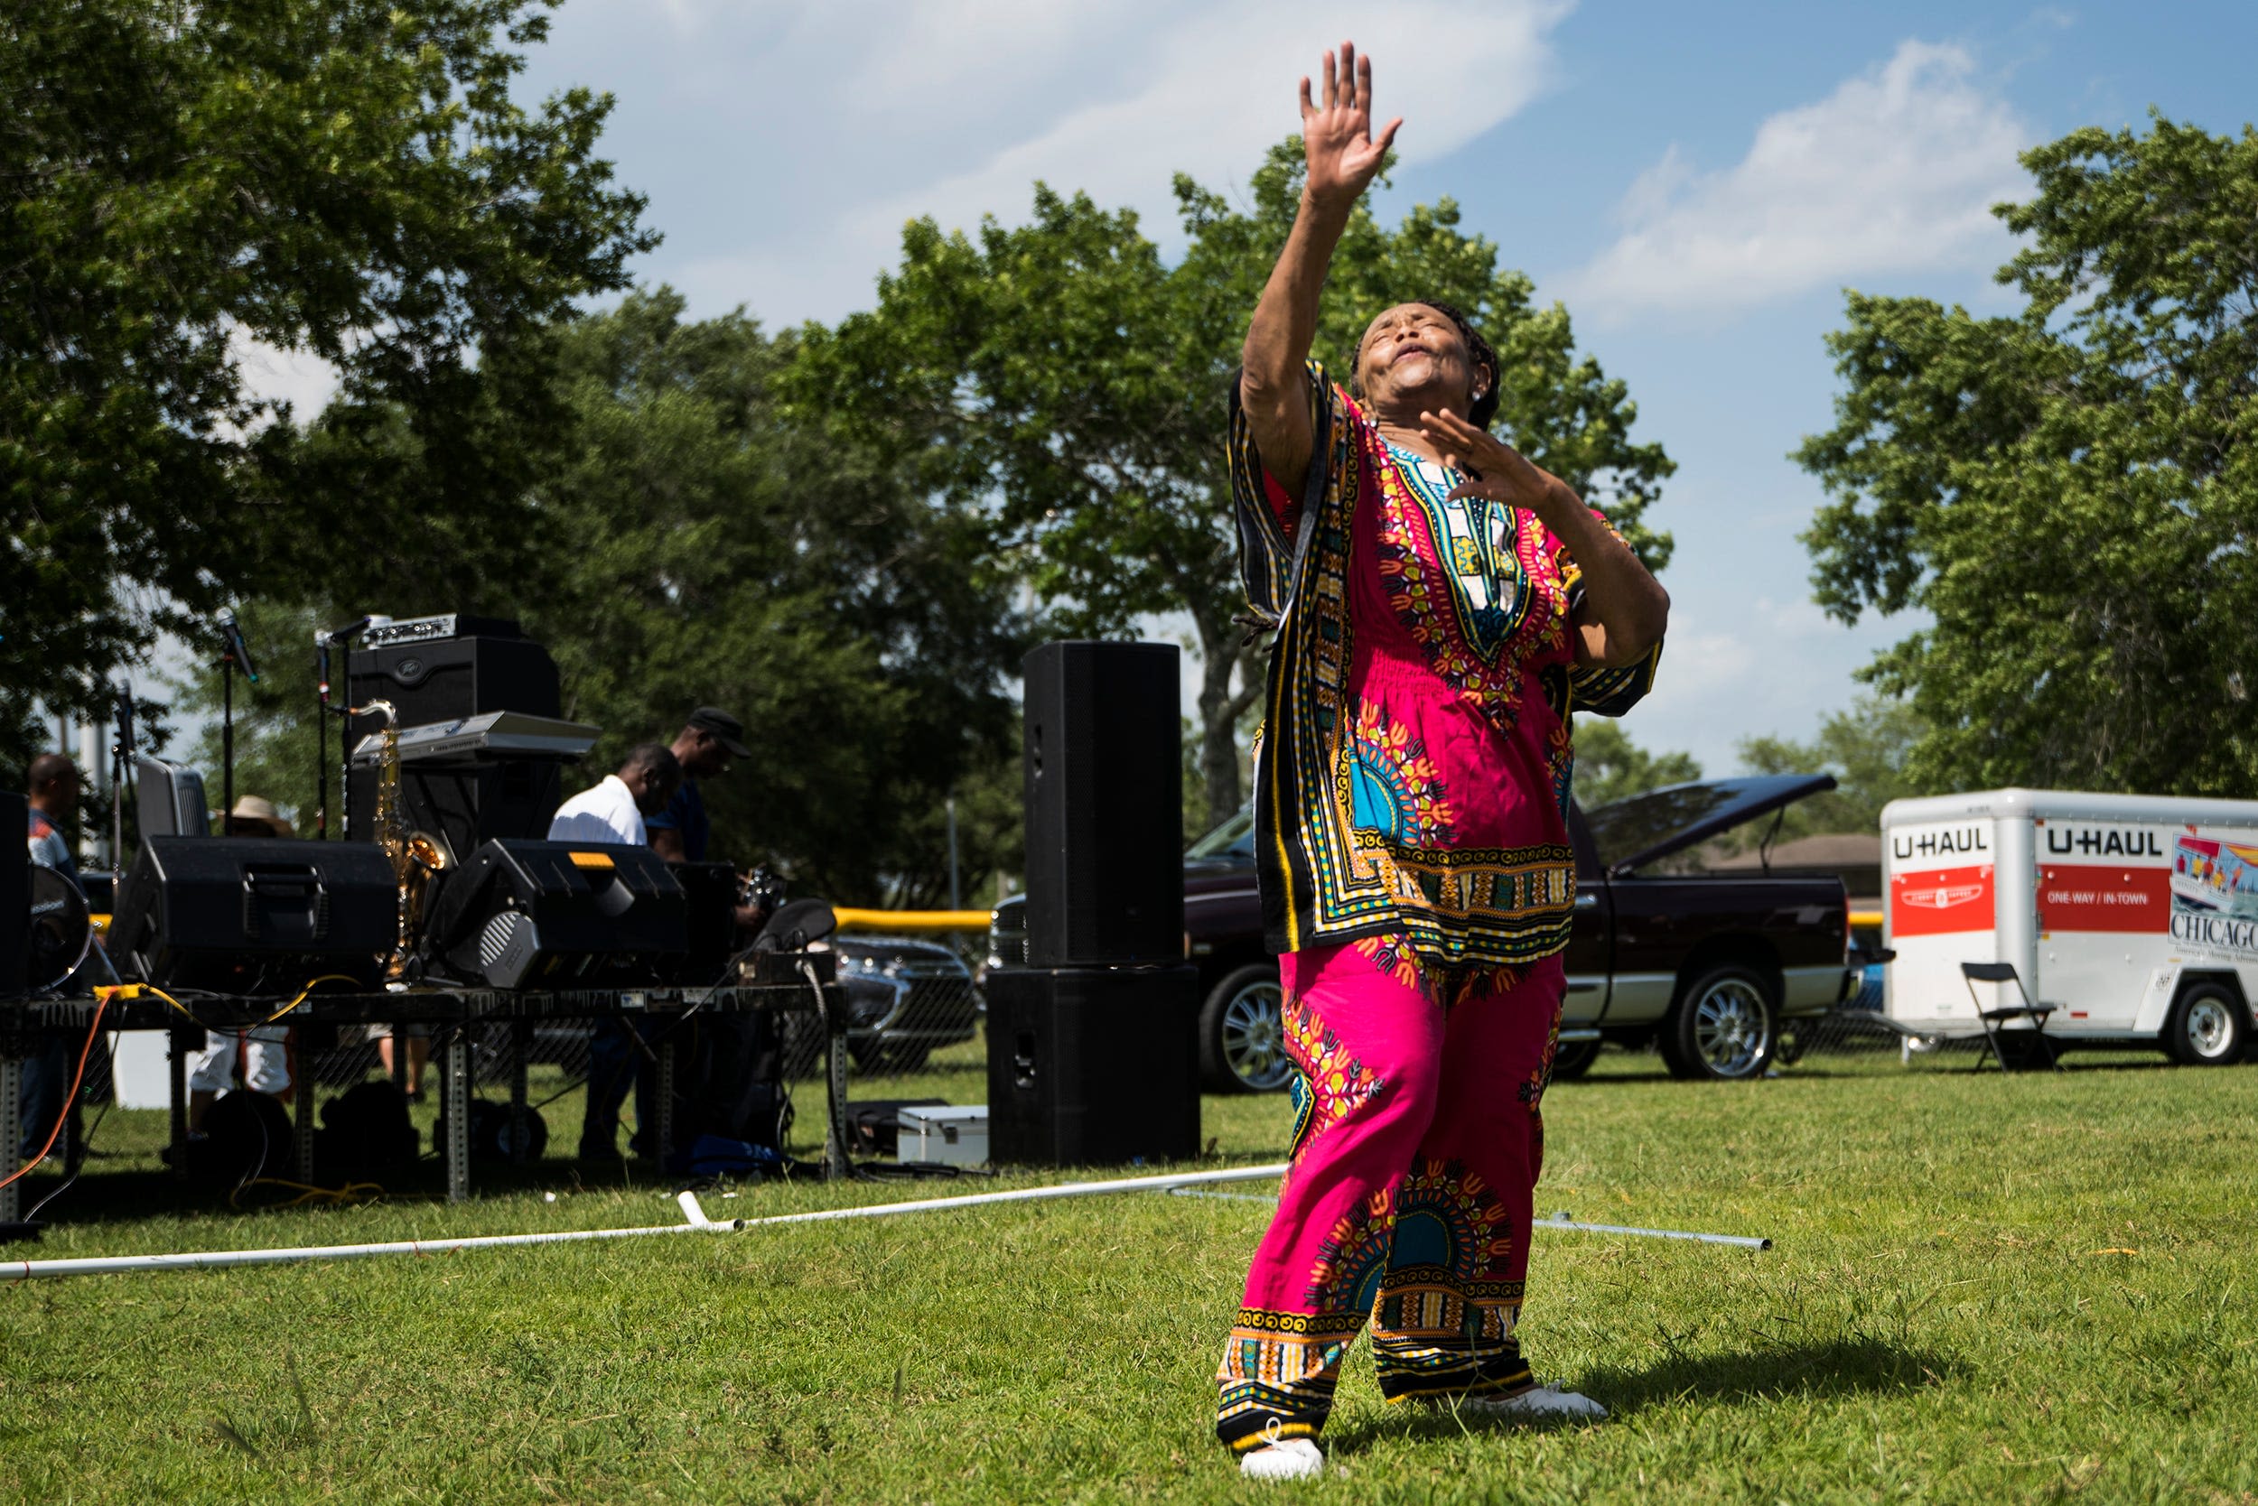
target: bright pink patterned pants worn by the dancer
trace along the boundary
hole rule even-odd
[[[1373,951],[1278,960],[1294,1165],[1217,1375],[1215,1431],[1240,1452],[1325,1425],[1366,1316],[1391,1402],[1531,1384],[1513,1325],[1560,957],[1445,1009]]]

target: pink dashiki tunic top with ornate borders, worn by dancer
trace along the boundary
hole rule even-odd
[[[1255,754],[1271,951],[1400,937],[1438,998],[1567,944],[1569,709],[1628,709],[1653,659],[1572,668],[1576,562],[1535,515],[1450,499],[1310,366],[1301,497],[1264,474],[1233,395],[1240,567],[1278,639]],[[1389,964],[1395,971],[1395,962]]]

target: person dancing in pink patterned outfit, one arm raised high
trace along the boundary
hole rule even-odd
[[[1560,1027],[1569,713],[1653,684],[1669,596],[1490,436],[1497,354],[1456,309],[1371,323],[1348,391],[1310,361],[1319,289],[1402,120],[1350,43],[1301,81],[1307,176],[1246,332],[1231,476],[1278,641],[1255,849],[1280,953],[1292,1172],[1217,1377],[1251,1477],[1316,1474],[1371,1319],[1391,1402],[1608,1416],[1540,1386],[1515,1325]]]

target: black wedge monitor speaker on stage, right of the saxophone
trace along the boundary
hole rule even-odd
[[[445,876],[422,951],[427,971],[497,989],[666,982],[689,901],[648,847],[499,840]]]

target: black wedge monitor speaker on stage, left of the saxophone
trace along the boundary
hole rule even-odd
[[[111,921],[117,971],[215,993],[364,987],[393,951],[400,892],[375,844],[145,838]]]

